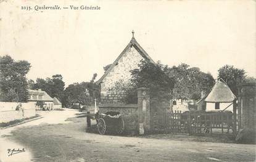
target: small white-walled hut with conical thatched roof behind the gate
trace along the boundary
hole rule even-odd
[[[233,111],[233,101],[236,96],[228,85],[219,79],[212,91],[197,102],[197,110],[205,111]]]

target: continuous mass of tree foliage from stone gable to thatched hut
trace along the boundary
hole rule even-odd
[[[170,68],[160,62],[154,65],[142,61],[138,69],[131,71],[131,75],[131,84],[126,88],[128,95],[123,99],[126,103],[136,103],[136,87],[149,87],[151,96],[157,102],[168,103],[170,98],[197,100],[201,92],[209,92],[215,82],[210,73],[204,73],[197,67],[189,68],[185,63]]]

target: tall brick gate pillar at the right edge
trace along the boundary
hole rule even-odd
[[[256,84],[244,83],[238,88],[238,128],[256,130]]]

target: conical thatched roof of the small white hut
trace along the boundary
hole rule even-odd
[[[205,98],[205,102],[226,103],[233,102],[234,99],[236,99],[236,96],[233,94],[231,89],[229,89],[228,84],[226,84],[223,79],[220,79],[215,83],[212,91]]]

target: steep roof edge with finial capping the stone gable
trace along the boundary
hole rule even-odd
[[[134,32],[133,32],[134,34]],[[122,58],[122,56],[125,54],[125,52],[131,47],[133,46],[138,52],[139,54],[141,54],[141,56],[144,58],[144,59],[147,59],[149,61],[151,61],[152,63],[155,63],[154,60],[151,59],[151,57],[149,57],[149,55],[147,54],[146,51],[144,51],[144,49],[142,49],[141,46],[139,46],[139,43],[136,41],[136,39],[134,38],[131,38],[131,41],[130,43],[128,43],[128,45],[125,47],[125,49],[123,50],[123,52],[117,57],[117,59],[114,61],[114,63],[112,63],[112,65],[110,65],[110,67],[107,69],[107,71],[105,71],[104,75],[101,76],[101,78],[96,81],[96,84],[99,84],[102,82],[102,80],[105,78],[105,76],[107,76],[107,74],[109,74],[109,72],[112,70],[112,68],[115,67],[115,64]]]

